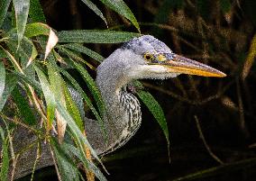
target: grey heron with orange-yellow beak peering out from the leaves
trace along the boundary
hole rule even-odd
[[[99,65],[96,75],[96,85],[106,106],[104,117],[106,137],[95,120],[85,118],[87,140],[96,149],[96,153],[107,154],[122,147],[141,125],[142,113],[139,100],[125,91],[127,84],[136,79],[165,79],[180,74],[203,77],[226,76],[215,68],[175,54],[165,43],[151,35],[134,38],[114,50]],[[75,94],[73,92],[73,95]],[[16,140],[20,141],[19,138]],[[47,151],[47,149],[41,150]],[[38,166],[52,165],[50,153],[45,152],[42,155],[42,161]],[[28,162],[26,163],[25,160]],[[26,163],[26,167],[21,166],[22,168],[17,170],[27,173],[32,169],[32,164],[29,162],[33,164],[32,158],[29,160],[24,158],[23,163]]]

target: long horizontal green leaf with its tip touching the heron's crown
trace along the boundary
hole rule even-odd
[[[58,33],[59,42],[120,43],[140,36],[134,32],[75,30]]]

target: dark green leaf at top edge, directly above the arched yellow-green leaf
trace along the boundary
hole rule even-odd
[[[32,19],[32,22],[46,23],[39,0],[31,0],[29,14],[30,14],[30,18]]]

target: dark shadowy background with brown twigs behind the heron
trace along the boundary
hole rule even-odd
[[[93,2],[105,14],[111,30],[136,32],[128,20],[99,1]],[[246,64],[250,61],[248,55],[255,34],[256,1],[124,2],[140,23],[142,34],[159,38],[174,52],[217,68],[227,77],[181,75],[168,80],[143,80],[145,89],[154,95],[166,114],[170,163],[160,126],[142,104],[141,129],[122,149],[103,158],[110,173],[105,176],[116,181],[160,181],[178,177],[186,180],[184,176],[215,167],[195,180],[256,180],[256,75],[253,58],[252,67]],[[105,23],[79,0],[41,0],[41,5],[47,23],[58,31],[106,29]],[[87,45],[104,57],[118,46]],[[93,59],[91,63],[97,66]],[[249,74],[242,78],[246,69]],[[91,73],[95,77],[95,72]],[[200,137],[200,130],[204,139]],[[35,180],[57,179],[53,170],[53,167],[48,167],[37,171]]]

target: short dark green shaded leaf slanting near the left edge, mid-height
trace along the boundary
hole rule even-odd
[[[21,93],[17,87],[14,88],[12,95],[14,98],[14,102],[17,105],[17,108],[19,110],[19,113],[21,113],[23,122],[25,122],[29,125],[35,125],[37,123],[37,121],[32,112],[32,107],[28,103],[28,100],[26,100],[23,97],[23,95],[21,95]]]

